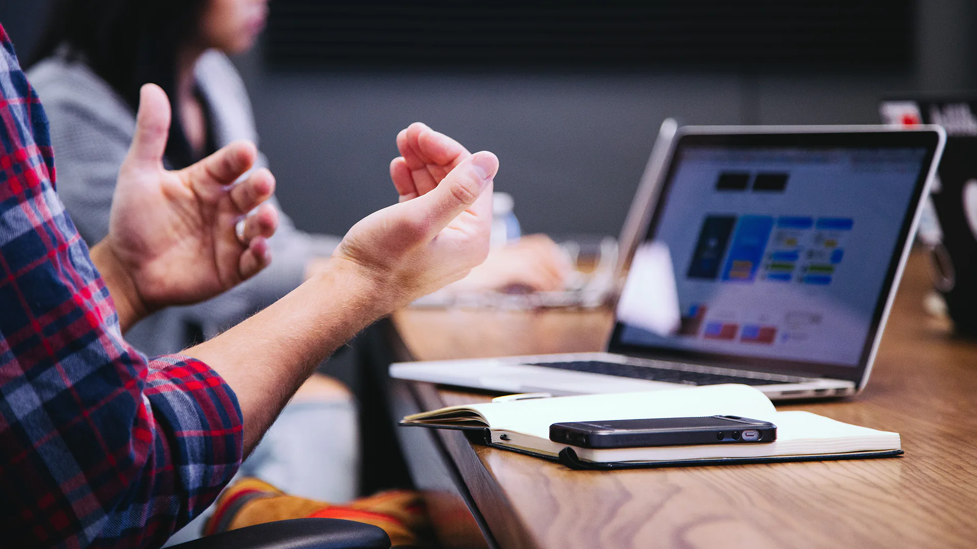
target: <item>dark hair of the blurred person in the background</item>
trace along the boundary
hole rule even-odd
[[[143,84],[159,85],[176,99],[177,53],[192,40],[206,0],[56,0],[28,66],[63,45],[108,82],[135,112]],[[174,109],[166,158],[174,168],[192,161]]]

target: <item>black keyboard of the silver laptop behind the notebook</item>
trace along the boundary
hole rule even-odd
[[[719,385],[720,383],[742,383],[743,385],[773,385],[776,383],[799,383],[811,381],[803,377],[785,375],[763,375],[747,377],[735,374],[723,374],[709,371],[690,371],[675,368],[662,368],[652,365],[625,364],[620,362],[604,362],[600,360],[573,360],[571,362],[540,362],[530,364],[546,366],[578,372],[601,373],[618,377],[631,377],[651,381],[668,383],[683,383],[686,385]],[[718,369],[718,368],[716,368]]]

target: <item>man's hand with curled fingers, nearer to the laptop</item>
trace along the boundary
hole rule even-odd
[[[468,274],[488,255],[498,158],[412,124],[398,136],[391,176],[401,202],[363,218],[333,258],[377,286],[392,311]]]

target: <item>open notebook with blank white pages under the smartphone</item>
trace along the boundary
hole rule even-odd
[[[590,449],[549,440],[553,423],[738,415],[777,426],[773,443]],[[404,417],[402,425],[479,432],[489,445],[560,459],[577,468],[888,457],[903,453],[898,433],[850,425],[805,411],[777,411],[745,385],[584,395],[447,406]]]

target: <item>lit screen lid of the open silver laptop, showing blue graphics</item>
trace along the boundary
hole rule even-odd
[[[668,250],[681,325],[618,318],[609,351],[861,388],[944,142],[934,126],[681,128],[638,246]]]

